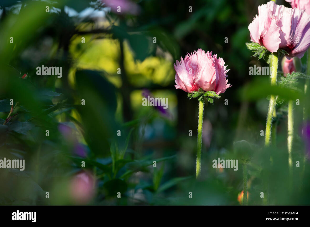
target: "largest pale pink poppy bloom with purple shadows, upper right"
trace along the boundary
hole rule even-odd
[[[258,15],[248,28],[251,41],[272,53],[279,48],[286,50],[288,59],[302,58],[310,46],[310,16],[297,8],[268,2],[258,7]]]

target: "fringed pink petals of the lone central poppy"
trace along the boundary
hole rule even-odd
[[[212,52],[198,49],[192,54],[187,54],[183,60],[176,61],[175,68],[175,87],[188,93],[198,91],[215,91],[217,94],[224,93],[231,87],[226,80],[225,62],[222,58],[217,59]]]

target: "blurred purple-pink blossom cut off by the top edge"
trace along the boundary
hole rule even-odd
[[[131,15],[138,15],[140,13],[140,7],[137,3],[129,0],[102,0],[104,6],[110,7],[114,13],[128,13]]]

